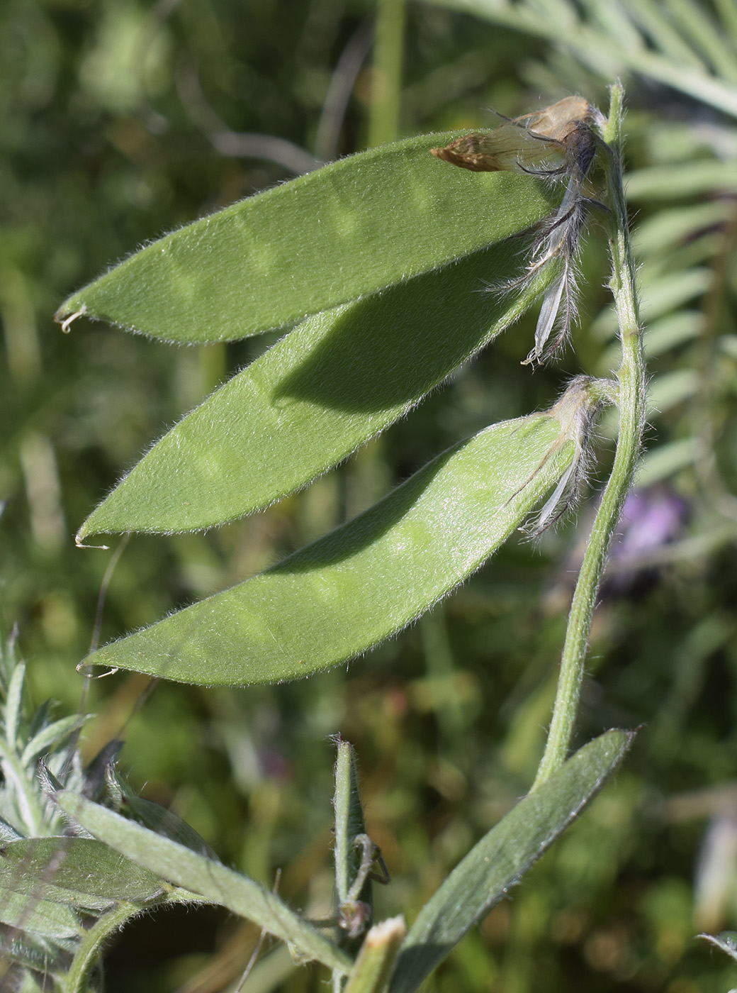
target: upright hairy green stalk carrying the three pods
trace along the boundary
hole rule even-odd
[[[622,343],[622,360],[617,370],[619,435],[612,473],[591,528],[570,605],[553,719],[533,789],[548,780],[562,766],[570,748],[599,585],[612,536],[632,484],[645,421],[645,359],[638,315],[635,264],[622,186],[620,150],[623,96],[620,83],[610,87],[609,118],[601,128],[601,136],[608,146],[607,154],[602,158],[606,173],[606,206],[610,212],[607,220],[612,262],[609,287],[614,296]]]

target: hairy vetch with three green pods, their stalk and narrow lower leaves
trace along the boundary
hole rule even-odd
[[[608,117],[568,97],[490,135],[432,135],[333,163],[148,245],[58,314],[64,331],[86,315],[172,342],[287,330],[154,445],[77,540],[191,530],[264,507],[336,466],[541,297],[529,361],[553,357],[574,312],[589,211],[607,230],[622,349],[616,379],[575,377],[550,409],[456,443],[273,568],[85,659],[206,685],[294,679],[349,660],[420,617],[516,528],[553,524],[581,489],[598,411],[618,407],[617,451],[571,605],[538,777],[409,930],[401,920],[372,926],[378,852],[345,742],[337,742],[332,937],[212,853],[154,833],[140,804],[130,807],[136,823],[50,780],[75,830],[322,962],[335,990],[417,989],[579,814],[631,741],[611,731],[568,757],[592,613],[645,412],[622,99],[617,84]],[[587,187],[594,171],[595,204]],[[522,275],[508,249],[521,234],[533,240]],[[490,283],[503,291],[488,292]]]

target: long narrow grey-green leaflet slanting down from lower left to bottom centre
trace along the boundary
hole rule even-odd
[[[85,830],[138,865],[257,923],[330,968],[343,973],[349,971],[351,960],[344,952],[303,921],[279,897],[247,876],[155,834],[78,793],[60,790],[54,793],[54,799]]]

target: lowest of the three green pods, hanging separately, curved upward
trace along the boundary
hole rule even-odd
[[[562,402],[562,401],[559,401]],[[401,631],[472,573],[571,465],[555,417],[492,425],[282,563],[88,656],[168,679],[294,679]]]

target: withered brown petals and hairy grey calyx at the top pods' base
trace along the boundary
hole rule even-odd
[[[554,267],[553,278],[546,280],[528,362],[552,355],[575,317],[575,259],[589,204],[582,187],[599,144],[590,125],[600,117],[600,111],[582,96],[566,96],[543,110],[506,120],[489,133],[473,132],[445,148],[431,149],[443,162],[472,172],[512,170],[567,181],[560,207],[538,227],[525,273],[498,287],[522,288]]]

